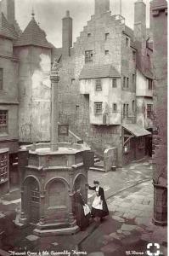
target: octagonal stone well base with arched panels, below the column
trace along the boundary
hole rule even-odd
[[[20,225],[35,224],[39,236],[78,230],[73,192],[82,188],[87,201],[87,171],[93,153],[83,144],[38,143],[20,148]],[[56,151],[52,148],[58,148]]]

